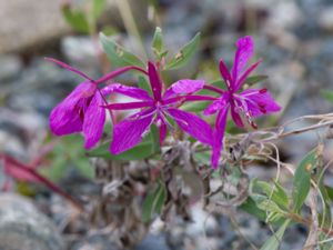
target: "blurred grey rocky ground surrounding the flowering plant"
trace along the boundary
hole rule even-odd
[[[95,67],[99,62],[93,42],[89,37],[73,32],[63,21],[60,2],[0,1],[0,151],[23,162],[33,159],[50,137],[50,110],[80,81],[71,72],[46,62],[43,57],[62,59],[91,76],[101,73]],[[149,47],[155,26],[148,19],[149,3],[144,0],[130,2],[143,43]],[[320,93],[321,89],[333,89],[331,0],[158,2],[159,22],[169,48],[176,50],[198,31],[203,34],[202,50],[182,74],[191,76],[199,67],[216,71],[216,62],[221,57],[232,62],[235,39],[249,33],[255,38],[256,57],[264,59],[258,72],[270,77],[265,84],[284,107],[275,124],[303,114],[332,110],[332,106]],[[131,44],[131,38],[120,20],[118,8],[110,0],[101,22],[115,27],[121,32],[122,42]],[[316,144],[316,138],[315,133],[310,132],[282,141],[280,148],[283,160],[297,162]],[[80,152],[74,152],[75,153]],[[61,151],[54,154],[61,156]],[[332,158],[332,147],[327,148],[325,157]],[[71,161],[70,166],[65,166],[65,174],[57,181],[72,193],[93,192],[92,182],[89,178],[82,181],[80,178],[83,177],[75,171],[75,166],[89,168],[82,160]],[[332,184],[330,171],[326,181]],[[274,177],[275,168],[254,167],[249,173],[269,179]],[[0,171],[0,183],[4,179]],[[28,191],[27,187],[20,189],[24,194]],[[34,187],[32,193],[28,192],[33,199],[10,193],[0,193],[0,249],[115,249],[98,234],[75,238],[67,233],[70,229],[63,227],[63,221],[68,219],[63,201],[41,187]],[[194,207],[192,212],[192,223],[180,221],[163,233],[158,233],[157,222],[137,249],[244,250],[252,249],[248,241],[261,246],[271,233],[256,219],[242,212],[236,214],[238,226],[225,217],[210,217],[200,207]],[[75,227],[85,230],[84,226]],[[306,236],[304,230],[302,227],[290,229],[281,249],[301,249]],[[20,243],[24,247],[19,247]]]

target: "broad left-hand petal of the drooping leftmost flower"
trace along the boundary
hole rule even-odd
[[[50,114],[50,128],[57,136],[79,132],[82,130],[80,110],[83,112],[85,100],[94,94],[95,84],[80,83]]]

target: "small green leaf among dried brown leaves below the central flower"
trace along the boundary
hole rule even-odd
[[[165,186],[159,180],[158,187],[148,193],[142,204],[142,221],[149,222],[154,213],[161,213],[167,199]]]

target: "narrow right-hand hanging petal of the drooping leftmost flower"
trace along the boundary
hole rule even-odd
[[[85,139],[85,149],[94,147],[103,134],[105,123],[105,109],[101,108],[103,103],[101,93],[97,92],[84,112],[82,130]]]

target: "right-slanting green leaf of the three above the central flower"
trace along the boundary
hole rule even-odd
[[[200,43],[200,33],[186,43],[165,66],[165,70],[174,70],[183,67],[194,56]]]

